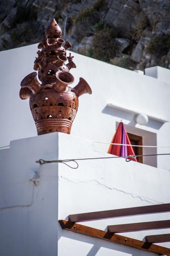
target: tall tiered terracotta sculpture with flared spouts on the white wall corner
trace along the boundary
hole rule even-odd
[[[76,65],[71,53],[66,57],[66,50],[72,46],[68,41],[64,44],[61,36],[61,28],[52,19],[45,31],[46,38],[38,45],[40,50],[34,61],[34,70],[38,71],[42,83],[38,82],[36,72],[27,75],[21,82],[19,96],[22,100],[30,98],[30,109],[38,135],[50,132],[70,134],[78,110],[78,97],[92,93],[90,86],[81,77],[74,88],[69,86],[74,82],[70,69],[76,68]]]

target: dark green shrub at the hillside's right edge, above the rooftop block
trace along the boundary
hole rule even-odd
[[[146,51],[161,57],[170,49],[170,36],[155,36],[147,44]]]

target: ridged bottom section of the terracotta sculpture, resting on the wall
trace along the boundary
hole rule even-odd
[[[70,134],[72,121],[63,118],[43,118],[35,122],[38,135],[51,132],[64,132]]]

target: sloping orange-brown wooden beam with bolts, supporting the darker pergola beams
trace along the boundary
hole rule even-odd
[[[133,248],[147,251],[147,252],[153,252],[160,255],[164,254],[164,255],[170,256],[170,249],[166,247],[162,247],[156,244],[146,243],[144,241],[129,238],[126,236],[120,236],[117,234],[109,233],[104,230],[87,227],[87,226],[80,225],[80,224],[73,223],[66,220],[59,220],[58,222],[60,223],[63,229],[76,232],[78,234],[99,238],[99,239],[106,240],[116,244],[126,245],[129,247],[133,247]]]

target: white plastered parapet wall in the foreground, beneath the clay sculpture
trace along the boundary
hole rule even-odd
[[[58,220],[69,214],[170,202],[170,172],[125,159],[78,161],[78,169],[44,160],[111,156],[96,144],[63,133],[11,141],[0,150],[0,255],[3,256],[151,256],[123,245],[62,230]],[[69,163],[75,166],[75,163]],[[33,174],[35,174],[33,176]],[[84,222],[106,230],[107,225],[167,220],[169,213]],[[146,235],[170,229],[126,233]],[[170,248],[170,243],[161,244]]]

